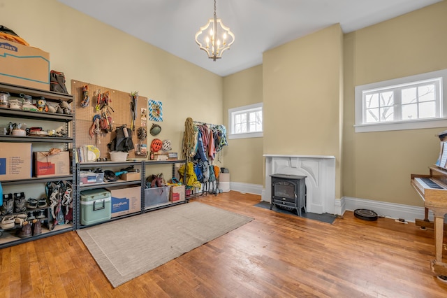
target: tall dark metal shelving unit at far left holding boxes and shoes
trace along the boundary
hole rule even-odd
[[[53,102],[53,103],[59,103],[59,101],[67,101],[68,103],[71,103],[73,101],[73,96],[71,94],[62,94],[57,92],[50,92],[46,90],[36,90],[29,87],[22,87],[17,85],[10,85],[5,83],[0,83],[0,90],[9,92],[11,96],[18,97],[19,94],[27,94],[31,95],[33,99],[40,99],[41,97],[44,97],[46,101]],[[57,114],[57,113],[44,113],[44,112],[35,112],[35,111],[22,111],[22,110],[15,110],[10,108],[0,108],[0,118],[7,118],[10,119],[29,119],[29,120],[38,120],[39,122],[61,122],[64,124],[64,129],[66,131],[66,134],[68,137],[52,137],[52,136],[0,136],[0,143],[1,142],[26,142],[26,143],[62,143],[65,144],[65,150],[72,151],[73,148],[75,148],[75,111],[74,108],[72,108],[72,114],[66,115],[66,114]],[[73,192],[72,192],[72,199],[73,199],[73,219],[76,216],[76,211],[74,206],[78,205],[76,202],[76,197],[74,195],[75,189],[76,189],[76,180],[75,180],[75,159],[74,155],[72,155],[71,158],[71,175],[64,175],[64,176],[47,176],[42,178],[29,178],[29,179],[23,179],[23,180],[6,180],[1,181],[1,185],[3,187],[11,187],[13,185],[39,185],[39,184],[45,184],[47,182],[56,182],[60,180],[69,180],[72,182]],[[3,193],[5,192],[5,189],[3,188]],[[7,191],[6,191],[7,192]],[[41,208],[42,209],[42,208]],[[33,209],[32,211],[37,210]],[[31,210],[30,210],[31,211]],[[29,211],[26,211],[29,212]],[[50,221],[50,207],[46,208],[47,217],[42,218],[40,220],[47,221],[49,223]],[[16,214],[16,213],[13,213]],[[0,217],[3,217],[4,215],[0,215]],[[17,229],[20,227],[17,227]],[[31,236],[29,238],[18,238],[15,236],[11,236],[8,233],[8,237],[6,235],[0,236],[0,248],[5,248],[8,246],[14,246],[20,243],[28,242],[28,241],[34,241],[36,239],[42,239],[47,236],[52,236],[54,234],[60,234],[63,232],[72,231],[75,228],[75,221],[73,220],[73,224],[64,224],[64,225],[56,225],[54,229],[43,229],[42,234],[38,234],[36,236]],[[13,229],[16,229],[13,228]],[[5,231],[7,232],[7,231]],[[2,232],[3,234],[3,232]]]

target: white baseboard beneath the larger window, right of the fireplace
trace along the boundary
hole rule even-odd
[[[344,211],[354,211],[356,209],[369,209],[377,213],[379,216],[386,218],[404,218],[407,222],[414,222],[416,218],[423,220],[425,216],[425,208],[417,206],[409,206],[384,201],[372,201],[369,199],[358,199],[353,197],[342,197],[340,200],[340,213]],[[335,206],[337,209],[337,206]],[[430,211],[428,218],[433,220],[433,213]]]

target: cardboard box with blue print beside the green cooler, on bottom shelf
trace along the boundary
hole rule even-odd
[[[141,186],[107,187],[112,197],[112,218],[141,211]]]

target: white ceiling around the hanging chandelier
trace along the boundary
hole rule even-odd
[[[339,23],[344,33],[442,0],[217,0],[217,17],[235,42],[213,62],[194,36],[213,0],[58,0],[219,76],[262,63],[262,54]]]

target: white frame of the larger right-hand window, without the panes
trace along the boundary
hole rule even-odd
[[[390,122],[364,123],[365,108],[363,106],[363,93],[384,88],[402,87],[403,85],[418,84],[424,80],[440,78],[439,90],[439,113],[436,118],[417,120],[396,120]],[[356,132],[384,132],[403,129],[423,129],[447,126],[447,69],[432,71],[415,76],[384,80],[378,83],[356,86]]]

